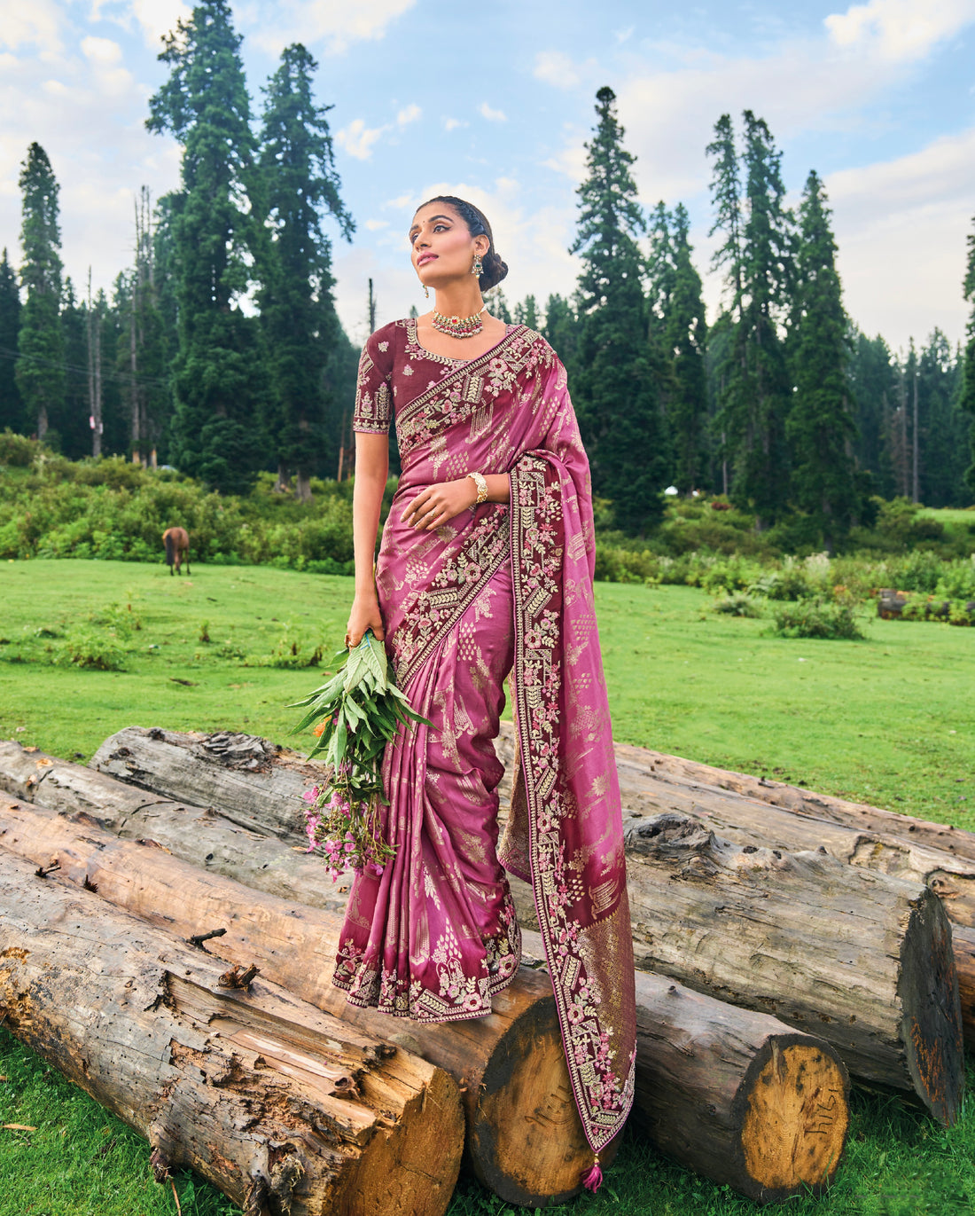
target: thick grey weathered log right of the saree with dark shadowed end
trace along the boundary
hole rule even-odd
[[[951,924],[919,884],[739,846],[677,815],[627,829],[637,968],[816,1030],[852,1076],[951,1126],[964,1090]],[[513,884],[519,919],[534,901]]]

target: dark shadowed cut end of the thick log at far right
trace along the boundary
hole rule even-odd
[[[964,1093],[962,1006],[951,924],[931,893],[911,912],[897,989],[914,1088],[931,1115],[951,1127]]]

